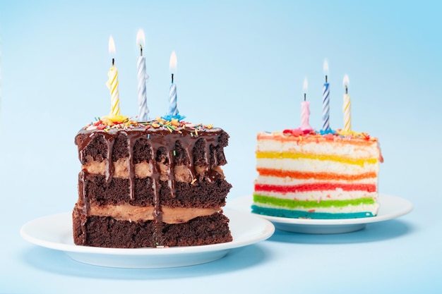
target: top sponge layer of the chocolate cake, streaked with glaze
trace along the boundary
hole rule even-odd
[[[220,128],[200,132],[183,129],[169,131],[162,128],[138,126],[129,130],[80,130],[76,135],[78,156],[82,164],[88,159],[118,161],[131,157],[134,164],[142,161],[165,164],[190,164],[191,166],[216,166],[227,163],[224,147],[229,135]]]

